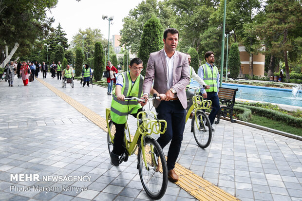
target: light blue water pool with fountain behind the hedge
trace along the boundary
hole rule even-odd
[[[197,87],[198,83],[196,81],[191,81],[190,85],[192,87]],[[302,91],[299,91],[297,96],[293,97],[292,90],[289,89],[228,83],[223,83],[222,87],[232,89],[238,88],[236,98],[302,107]]]

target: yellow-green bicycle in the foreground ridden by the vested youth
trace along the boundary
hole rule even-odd
[[[155,96],[148,98],[148,101],[155,98],[159,99],[159,97]],[[126,97],[125,100],[144,101],[136,97]],[[157,119],[156,114],[148,110],[139,112],[136,119],[137,130],[134,137],[130,135],[127,122],[125,124],[124,153],[119,158],[119,163],[126,162],[128,157],[134,154],[138,147],[137,168],[140,180],[147,195],[151,199],[158,200],[164,196],[167,189],[168,167],[161,146],[151,134],[163,134],[166,131],[167,122]],[[106,109],[106,120],[108,128],[107,142],[110,154],[113,150],[115,133],[115,126],[110,116],[110,108]],[[140,136],[141,138],[139,138]]]

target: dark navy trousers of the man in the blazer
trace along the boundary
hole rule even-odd
[[[170,141],[170,147],[168,151],[168,170],[174,169],[181,142],[183,140],[183,134],[186,124],[186,110],[183,108],[179,100],[174,101],[161,101],[156,108],[158,112],[157,118],[167,121],[167,130],[164,134],[161,134],[157,139],[159,145],[164,148]]]

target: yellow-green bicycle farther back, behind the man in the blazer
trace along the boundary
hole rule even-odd
[[[201,87],[190,87],[195,92]],[[189,90],[188,89],[188,90]],[[203,110],[211,107],[212,101],[204,100],[202,96],[193,96],[193,105],[189,108],[186,115],[186,123],[190,117],[191,112],[194,110],[194,116],[191,120],[191,132],[193,132],[195,141],[201,148],[207,148],[212,140],[212,128],[207,114]]]

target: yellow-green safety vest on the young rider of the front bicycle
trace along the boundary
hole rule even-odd
[[[136,78],[133,86],[132,80],[130,77],[129,72],[124,72],[121,74],[123,76],[123,87],[121,93],[124,94],[125,97],[127,96],[137,96],[138,98],[142,97],[143,95],[143,82],[144,76],[139,75]],[[114,88],[115,92],[115,88]],[[125,124],[128,118],[128,114],[135,114],[137,110],[142,108],[141,105],[136,101],[119,101],[117,100],[115,94],[112,95],[112,102],[111,102],[111,119],[116,124]]]

